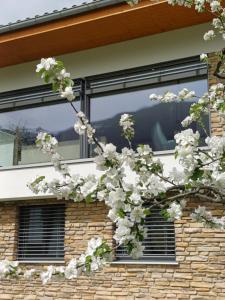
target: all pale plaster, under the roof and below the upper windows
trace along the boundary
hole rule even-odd
[[[204,42],[203,33],[208,24],[193,26],[117,43],[60,57],[73,77],[100,74],[147,64],[169,61],[212,52],[224,47],[224,41]],[[20,64],[0,69],[0,92],[16,90],[42,84],[35,76],[35,62]],[[161,159],[167,166],[173,166],[171,155]],[[95,172],[94,164],[89,161],[70,164],[75,173],[87,175]],[[27,182],[36,175],[55,177],[50,166],[33,166],[0,170],[0,200],[30,199],[34,196],[26,187]],[[40,196],[38,196],[40,197]]]

